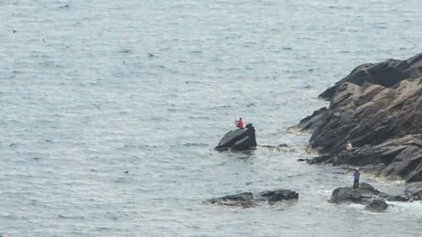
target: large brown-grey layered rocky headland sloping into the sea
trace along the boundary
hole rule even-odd
[[[422,53],[363,64],[330,87],[330,100],[297,128],[313,130],[310,163],[366,166],[380,175],[422,181]],[[347,141],[353,149],[344,151]]]

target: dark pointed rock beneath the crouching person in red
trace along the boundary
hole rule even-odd
[[[228,132],[216,146],[215,150],[249,150],[256,146],[255,128],[249,126],[243,130]]]

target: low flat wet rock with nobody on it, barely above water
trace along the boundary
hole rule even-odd
[[[237,207],[255,207],[260,203],[273,204],[282,200],[298,200],[299,194],[287,189],[276,189],[273,191],[264,191],[253,195],[253,193],[244,192],[235,195],[226,195],[221,198],[208,200],[211,204]]]

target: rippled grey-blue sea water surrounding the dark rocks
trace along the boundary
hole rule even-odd
[[[422,51],[422,1],[0,1],[0,236],[421,236],[327,200],[289,130],[358,64]],[[260,145],[216,152],[242,116]],[[400,181],[362,174],[381,191]],[[289,188],[298,202],[203,201]]]

